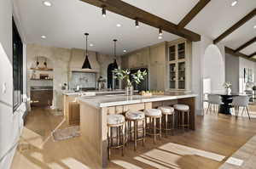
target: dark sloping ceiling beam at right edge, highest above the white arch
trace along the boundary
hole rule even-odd
[[[248,20],[251,20],[256,15],[256,8],[253,9],[249,14],[247,14],[245,17],[243,17],[241,20],[236,22],[235,25],[232,25],[227,31],[224,31],[223,34],[218,36],[216,39],[213,40],[213,42],[216,44],[223,40],[225,37],[230,35],[233,31],[236,31],[241,25],[244,25]]]

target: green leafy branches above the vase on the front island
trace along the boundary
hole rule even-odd
[[[131,87],[132,82],[136,82],[137,84],[143,82],[144,77],[147,76],[147,71],[137,70],[136,73],[131,74],[130,70],[122,70],[120,67],[118,69],[113,70],[114,78],[125,81],[128,87]],[[131,75],[131,80],[130,80]]]

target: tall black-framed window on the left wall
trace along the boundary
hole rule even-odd
[[[14,110],[22,103],[23,93],[23,44],[13,19],[13,78],[14,78]]]

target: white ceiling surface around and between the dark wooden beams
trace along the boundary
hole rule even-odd
[[[164,38],[159,40],[157,29],[143,24],[137,29],[134,20],[108,11],[107,18],[103,18],[101,8],[79,0],[49,1],[53,3],[50,8],[44,7],[42,0],[15,0],[27,42],[62,48],[84,48],[83,34],[88,31],[89,42],[95,45],[89,47],[90,50],[113,54],[113,38],[117,38],[118,54],[123,54],[123,49],[129,52],[178,38],[164,32]],[[177,24],[199,0],[123,1]],[[232,1],[212,0],[186,28],[214,39],[256,7],[256,0],[239,0],[235,7],[230,6]],[[117,27],[118,23],[122,26]],[[256,36],[253,25],[256,25],[255,17],[222,42],[236,49]],[[41,35],[47,36],[47,39],[41,39]],[[256,51],[255,44],[242,50],[244,54],[250,54],[252,51]]]

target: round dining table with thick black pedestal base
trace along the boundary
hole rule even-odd
[[[236,96],[247,96],[247,94],[244,93],[211,93],[219,95],[222,99],[223,104],[219,105],[218,113],[225,114],[225,115],[231,115],[231,108],[233,97]]]

